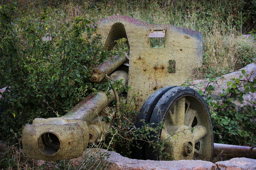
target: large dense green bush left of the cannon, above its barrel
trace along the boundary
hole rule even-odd
[[[45,6],[36,16],[15,5],[0,6],[0,87],[7,87],[0,99],[4,140],[13,136],[11,129],[20,133],[36,117],[64,115],[102,88],[89,81],[89,71],[113,55],[104,49],[92,20],[76,17],[52,30],[51,8]]]

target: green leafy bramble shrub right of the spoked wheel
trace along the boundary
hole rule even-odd
[[[231,78],[227,83],[228,88],[222,89],[223,92],[217,97],[211,95],[215,89],[210,83],[216,81],[216,77],[221,75],[220,72],[212,70],[212,73],[208,74],[208,83],[204,91],[196,89],[205,98],[210,109],[215,143],[256,144],[255,101],[242,108],[235,105],[235,102],[243,103],[245,93],[256,91],[256,79],[252,81],[251,76],[245,74],[245,70],[242,70],[242,74],[239,78]]]

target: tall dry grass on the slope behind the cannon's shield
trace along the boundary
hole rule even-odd
[[[41,11],[42,1],[20,0],[23,6]],[[111,15],[127,15],[151,24],[170,24],[199,31],[204,36],[203,69],[196,69],[196,78],[204,78],[211,69],[237,70],[253,61],[244,61],[238,48],[254,52],[247,48],[250,43],[238,43],[242,33],[248,32],[248,16],[242,12],[247,1],[153,1],[153,0],[96,0],[96,1],[47,1],[51,7],[49,25],[72,22],[76,16],[85,16],[99,20]],[[31,4],[32,3],[32,4]],[[90,10],[88,10],[90,9]],[[89,12],[90,11],[90,12]],[[250,11],[247,11],[250,13]],[[253,28],[251,26],[250,28]],[[54,28],[52,28],[54,29]],[[241,46],[241,47],[239,47]],[[249,53],[248,55],[250,55]],[[242,63],[242,64],[241,64]]]

